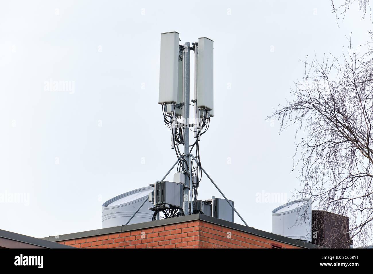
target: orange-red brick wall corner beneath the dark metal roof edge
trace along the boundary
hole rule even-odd
[[[76,248],[299,248],[201,220],[59,243]]]

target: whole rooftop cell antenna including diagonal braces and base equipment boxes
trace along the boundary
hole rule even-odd
[[[171,131],[171,148],[175,150],[177,161],[162,180],[150,184],[154,190],[142,202],[140,207],[129,218],[131,221],[140,208],[149,201],[153,204],[153,221],[189,214],[209,214],[212,217],[233,221],[233,201],[226,198],[201,165],[199,141],[210,126],[214,116],[214,72],[213,44],[207,37],[198,38],[198,42],[185,42],[179,45],[179,33],[164,32],[161,34],[159,100],[162,105],[163,120]],[[194,51],[194,99],[190,98],[190,51]],[[193,120],[190,121],[189,105],[192,104]],[[192,123],[191,123],[192,122]],[[189,132],[193,132],[194,142],[189,143]],[[180,151],[181,147],[183,152]],[[192,152],[195,152],[193,155]],[[166,176],[177,165],[173,182],[164,181]],[[198,185],[202,172],[206,174],[224,199],[212,198],[200,201]]]

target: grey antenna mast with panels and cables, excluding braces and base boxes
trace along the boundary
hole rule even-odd
[[[190,104],[190,51],[194,51],[194,119],[189,120]],[[164,123],[171,130],[171,148],[175,149],[178,159],[178,173],[174,181],[183,185],[182,210],[172,215],[188,215],[193,212],[197,202],[198,184],[201,180],[198,141],[210,125],[213,111],[213,41],[206,37],[198,42],[179,45],[178,32],[161,34],[159,100],[162,105]],[[194,143],[189,146],[189,132],[194,132]],[[180,146],[184,152],[180,152]],[[195,149],[196,157],[190,153]],[[190,209],[189,209],[189,197]],[[162,210],[157,207],[157,210]]]

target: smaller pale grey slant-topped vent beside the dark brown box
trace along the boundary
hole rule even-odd
[[[311,202],[288,202],[272,211],[272,233],[311,242]]]

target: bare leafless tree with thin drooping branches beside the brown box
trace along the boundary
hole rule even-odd
[[[373,226],[373,60],[366,46],[362,56],[350,42],[339,58],[303,61],[293,100],[271,116],[281,122],[280,132],[297,128],[293,170],[299,169],[303,189],[295,196],[349,217],[357,246],[372,241]]]

